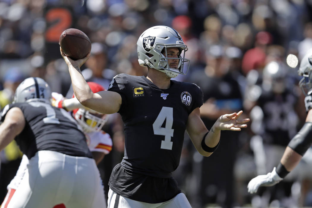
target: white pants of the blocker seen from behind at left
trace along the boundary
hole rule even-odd
[[[94,159],[37,152],[29,160],[16,190],[8,190],[1,208],[52,208],[61,203],[66,208],[106,207]]]

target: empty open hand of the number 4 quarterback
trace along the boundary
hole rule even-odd
[[[219,130],[231,130],[231,131],[240,131],[241,128],[246,128],[246,122],[249,122],[250,119],[241,119],[237,120],[243,111],[239,111],[238,113],[232,114],[224,114],[218,118],[215,123],[215,128]]]

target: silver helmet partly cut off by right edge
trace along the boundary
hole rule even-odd
[[[298,70],[298,75],[303,76],[299,82],[299,86],[305,96],[308,95],[308,92],[312,89],[312,49],[309,50],[305,56],[302,58]]]

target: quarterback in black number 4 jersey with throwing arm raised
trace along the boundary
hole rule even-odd
[[[119,74],[108,91],[95,94],[80,71],[90,54],[74,61],[61,50],[80,103],[105,114],[118,112],[125,124],[124,158],[110,177],[108,207],[191,207],[171,176],[179,165],[185,130],[197,151],[209,156],[221,130],[240,131],[249,119],[238,120],[242,111],[225,114],[207,130],[200,118],[201,89],[171,80],[186,74],[189,61],[184,57],[188,48],[174,29],[151,27],[137,46],[139,64],[148,67],[148,75]]]

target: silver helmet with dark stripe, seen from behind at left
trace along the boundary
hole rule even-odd
[[[29,77],[15,90],[13,103],[39,101],[51,104],[52,94],[48,83],[39,77]]]

